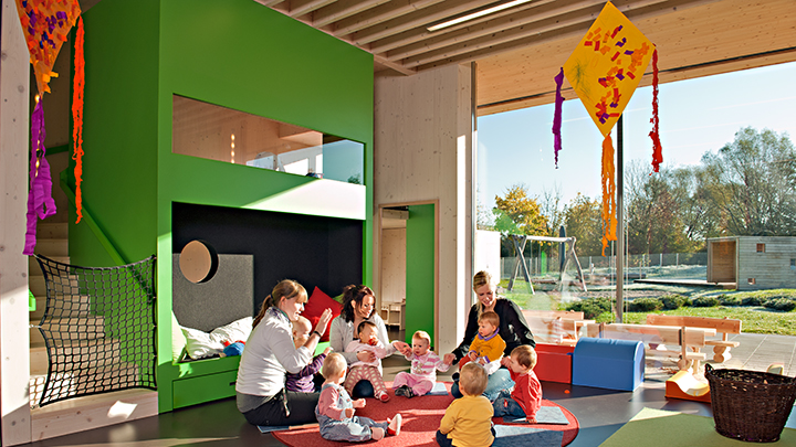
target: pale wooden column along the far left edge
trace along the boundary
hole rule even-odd
[[[30,55],[13,0],[0,34],[0,430],[2,445],[31,441],[28,211]]]

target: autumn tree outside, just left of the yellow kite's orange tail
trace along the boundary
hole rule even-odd
[[[564,225],[567,236],[576,238],[575,253],[578,256],[603,254],[603,205],[599,201],[578,193],[564,207]]]

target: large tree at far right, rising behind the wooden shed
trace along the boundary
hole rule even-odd
[[[796,149],[787,134],[746,127],[702,157],[701,187],[725,235],[796,235]]]

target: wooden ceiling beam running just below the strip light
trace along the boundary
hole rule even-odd
[[[664,2],[666,0],[650,0],[654,3]],[[617,3],[621,0],[617,1]],[[627,3],[628,1],[625,1]],[[577,13],[578,11],[587,11],[585,20],[591,20],[591,12],[595,9],[603,9],[605,0],[580,0],[568,2],[555,2],[547,4],[546,8],[538,10],[526,10],[514,14],[512,17],[504,17],[495,20],[490,20],[476,25],[470,25],[459,29],[454,32],[449,32],[438,38],[427,39],[422,42],[409,44],[405,47],[400,47],[396,51],[389,51],[386,56],[390,61],[397,61],[401,58],[411,57],[418,54],[428,53],[430,51],[439,50],[446,46],[451,46],[457,43],[469,42],[478,38],[493,36],[512,29],[528,28],[533,23],[543,22],[544,20],[561,17],[565,13]],[[379,45],[371,44],[370,51],[374,53],[383,53],[384,51],[392,47],[394,45]]]

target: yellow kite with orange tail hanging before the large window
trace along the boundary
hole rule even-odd
[[[610,131],[630,102],[636,87],[654,52],[650,42],[625,14],[610,2],[606,3],[595,22],[578,43],[563,67],[564,75],[586,106],[589,116],[603,134],[603,254],[608,241],[616,241],[616,183],[614,143]],[[559,74],[561,75],[561,74]],[[556,76],[556,84],[561,85]],[[553,123],[561,132],[561,107],[556,91],[556,114]],[[657,117],[653,118],[657,135]],[[556,158],[561,148],[556,138]]]

